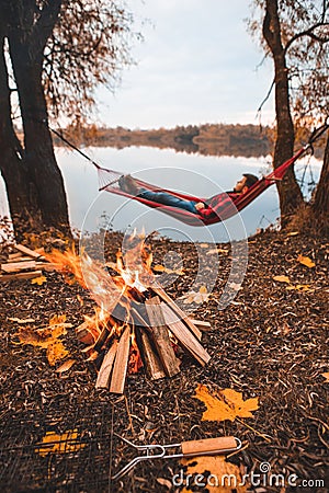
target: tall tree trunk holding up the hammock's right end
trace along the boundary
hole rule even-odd
[[[294,153],[294,125],[290,108],[288,78],[285,53],[281,41],[281,26],[277,0],[266,0],[266,13],[263,21],[263,35],[271,49],[275,70],[275,114],[277,136],[274,149],[276,169]],[[290,216],[303,203],[303,195],[296,182],[293,168],[290,168],[282,182],[277,182],[280,197],[281,226],[288,222]]]

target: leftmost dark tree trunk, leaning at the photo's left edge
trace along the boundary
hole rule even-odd
[[[18,241],[26,229],[41,229],[41,214],[35,200],[35,187],[29,176],[24,150],[11,119],[11,91],[4,58],[4,36],[0,37],[0,170],[4,180],[10,215]]]

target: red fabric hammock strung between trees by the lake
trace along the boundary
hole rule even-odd
[[[138,195],[131,195],[124,191],[122,191],[118,186],[118,179],[122,176],[122,173],[107,170],[105,168],[98,167],[99,172],[99,183],[100,191],[111,192],[117,195],[123,195],[125,197],[132,198],[134,200],[138,200],[141,204],[145,204],[149,207],[159,208],[160,211],[169,214],[170,216],[179,219],[182,222],[185,222],[190,226],[208,226],[214,225],[216,222],[224,221],[229,219],[230,217],[238,214],[245,207],[247,207],[254,198],[257,198],[262,192],[264,192],[269,186],[273,185],[275,181],[282,180],[285,175],[287,169],[309,148],[309,145],[303,147],[298,150],[291,159],[281,164],[276,170],[272,171],[266,176],[263,176],[261,180],[256,182],[247,192],[240,194],[237,198],[227,200],[227,204],[220,210],[220,214],[214,214],[211,217],[203,217],[201,214],[189,213],[188,210],[180,209],[179,207],[167,206],[163,204],[159,204],[158,202],[148,200],[147,198],[143,198]],[[203,197],[194,197],[192,195],[181,194],[179,192],[169,191],[167,188],[161,188],[156,185],[151,185],[150,183],[144,182],[141,180],[135,179],[136,183],[149,191],[152,192],[167,192],[175,197],[183,198],[186,200],[197,202],[206,202],[206,198]]]

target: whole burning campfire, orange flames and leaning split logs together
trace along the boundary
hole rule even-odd
[[[197,325],[204,322],[192,320],[164,291],[151,271],[151,253],[144,240],[137,240],[124,254],[117,253],[116,263],[105,265],[83,251],[47,254],[69,282],[73,275],[98,303],[94,317],[86,317],[77,328],[77,337],[98,368],[95,387],[118,394],[127,374],[141,367],[154,380],[177,375],[182,351],[202,366],[211,358],[200,342]]]

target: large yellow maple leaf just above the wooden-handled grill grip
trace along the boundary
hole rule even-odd
[[[243,401],[242,394],[232,389],[211,393],[207,387],[198,385],[194,397],[204,402],[207,408],[202,421],[235,421],[236,417],[253,417],[251,411],[258,410],[258,398]]]

